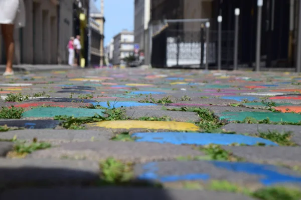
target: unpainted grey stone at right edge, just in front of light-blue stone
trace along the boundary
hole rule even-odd
[[[301,148],[291,146],[223,146],[251,162],[301,166]]]

